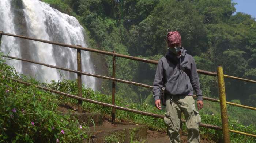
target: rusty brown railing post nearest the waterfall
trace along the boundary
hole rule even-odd
[[[81,45],[77,45],[79,47],[82,47]],[[81,62],[81,50],[77,49],[77,55],[76,55],[76,60],[77,60],[77,70],[82,71],[82,62]],[[82,75],[77,74],[77,89],[78,89],[78,96],[82,97]],[[82,100],[78,99],[78,112],[82,113]]]

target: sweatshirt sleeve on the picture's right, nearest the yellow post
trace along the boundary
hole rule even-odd
[[[202,90],[200,88],[200,83],[199,83],[199,77],[196,70],[196,63],[193,57],[191,62],[190,82],[192,84],[193,89],[196,91],[197,100],[203,100]]]

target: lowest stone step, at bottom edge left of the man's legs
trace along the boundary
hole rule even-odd
[[[147,127],[144,125],[109,125],[90,127],[84,143],[130,143],[133,140],[145,140]]]

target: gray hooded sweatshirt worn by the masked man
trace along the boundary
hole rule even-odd
[[[202,99],[199,78],[194,58],[181,47],[181,57],[177,58],[168,50],[165,57],[158,61],[153,82],[153,98],[159,99],[161,88],[165,87],[167,96],[193,95],[196,91],[197,100]]]

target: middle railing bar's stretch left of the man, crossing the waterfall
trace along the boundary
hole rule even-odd
[[[8,58],[11,58],[11,59],[16,59],[16,60],[22,60],[22,61],[26,61],[26,62],[30,62],[30,63],[34,63],[34,64],[44,65],[46,67],[56,68],[56,69],[60,69],[60,70],[63,70],[63,71],[74,72],[74,73],[77,73],[77,74],[93,76],[93,77],[102,78],[102,79],[109,79],[109,80],[113,80],[113,81],[116,81],[116,82],[128,83],[128,84],[132,84],[132,85],[136,85],[136,86],[142,86],[142,87],[146,87],[146,88],[152,88],[152,86],[148,86],[147,84],[142,84],[142,83],[137,83],[137,82],[130,82],[130,81],[127,81],[127,80],[116,79],[116,78],[111,78],[111,77],[102,76],[102,75],[95,75],[95,74],[90,74],[90,73],[87,73],[87,72],[80,72],[80,71],[76,71],[74,69],[56,67],[54,65],[44,64],[44,63],[40,63],[40,62],[36,62],[36,61],[31,61],[31,60],[26,60],[26,59],[21,59],[21,58],[18,58],[18,57],[5,56],[5,55],[2,55],[2,56],[3,57],[8,57]]]

